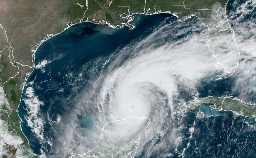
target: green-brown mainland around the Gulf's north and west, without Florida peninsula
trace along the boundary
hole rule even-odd
[[[13,136],[21,138],[23,143],[19,148],[24,150],[23,154],[29,155],[25,157],[32,157],[28,150],[28,141],[19,126],[17,108],[23,84],[34,68],[32,50],[37,48],[41,40],[48,38],[48,34],[60,33],[70,22],[76,24],[91,21],[113,26],[122,23],[130,25],[128,21],[133,14],[146,14],[149,9],[151,14],[169,12],[176,14],[180,19],[196,15],[208,21],[214,9],[224,8],[227,0],[185,0],[184,4],[183,0],[0,0],[0,2],[0,24],[6,31],[0,28],[0,83],[9,103],[9,105],[1,105],[5,113],[2,113],[0,118],[8,122],[8,130]],[[121,17],[122,14],[124,16]],[[245,114],[251,113],[246,111]],[[6,144],[4,150],[9,154],[3,157],[15,157],[18,149]]]

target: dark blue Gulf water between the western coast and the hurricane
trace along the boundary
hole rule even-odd
[[[82,89],[93,84],[106,60],[135,39],[152,33],[170,14],[138,16],[136,28],[112,29],[107,25],[76,24],[45,41],[35,53],[35,69],[29,76],[19,105],[21,128],[35,154],[52,154],[60,120],[77,102]],[[137,18],[136,18],[137,19]],[[132,52],[131,52],[132,53]],[[129,55],[127,55],[129,57]],[[81,117],[81,127],[92,128],[95,106]]]

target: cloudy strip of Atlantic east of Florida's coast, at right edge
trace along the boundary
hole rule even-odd
[[[237,97],[246,102],[255,103],[256,2],[234,2],[229,7],[233,10],[228,11],[227,15],[241,52],[238,70],[234,76],[236,83],[233,93],[238,93]]]

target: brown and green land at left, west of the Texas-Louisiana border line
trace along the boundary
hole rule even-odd
[[[23,155],[32,157],[17,114],[24,82],[34,68],[32,50],[48,34],[60,33],[68,23],[75,24],[83,18],[87,7],[81,8],[77,3],[85,5],[83,0],[0,0],[0,83],[7,98],[1,105],[1,119],[7,122],[8,134],[22,141],[17,143],[19,146],[2,145],[2,157],[16,157],[20,148],[24,149]]]

